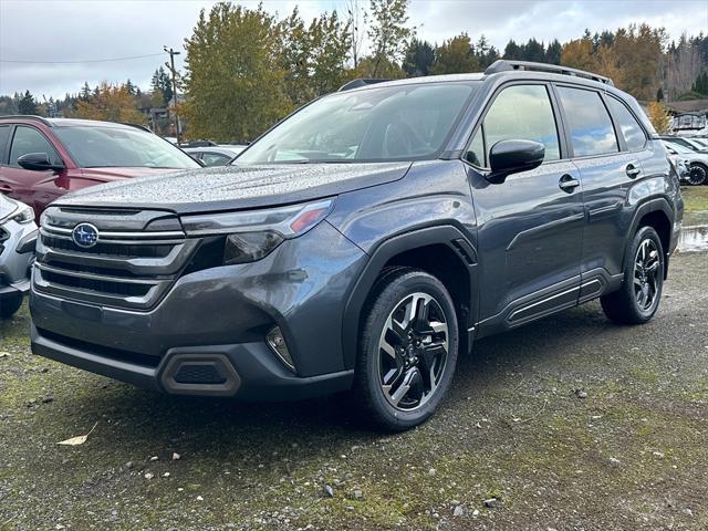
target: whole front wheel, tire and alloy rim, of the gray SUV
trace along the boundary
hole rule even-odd
[[[360,330],[353,388],[357,416],[387,431],[427,420],[450,386],[458,347],[455,305],[445,285],[412,268],[385,271]]]

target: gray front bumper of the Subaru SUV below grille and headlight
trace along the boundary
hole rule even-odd
[[[146,312],[33,288],[32,351],[170,394],[287,399],[343,391],[353,381],[342,354],[344,294],[364,262],[323,222],[258,262],[181,277]],[[273,325],[296,374],[264,342]]]

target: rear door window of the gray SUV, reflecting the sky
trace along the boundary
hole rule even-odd
[[[595,91],[558,87],[575,157],[620,152],[610,113]]]

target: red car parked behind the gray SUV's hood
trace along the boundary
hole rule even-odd
[[[33,207],[38,219],[54,199],[86,186],[199,167],[140,126],[0,116],[0,194]]]

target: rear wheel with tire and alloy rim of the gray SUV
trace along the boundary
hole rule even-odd
[[[622,288],[600,302],[607,317],[617,324],[644,324],[657,309],[664,288],[665,254],[659,235],[642,227],[624,257]]]

